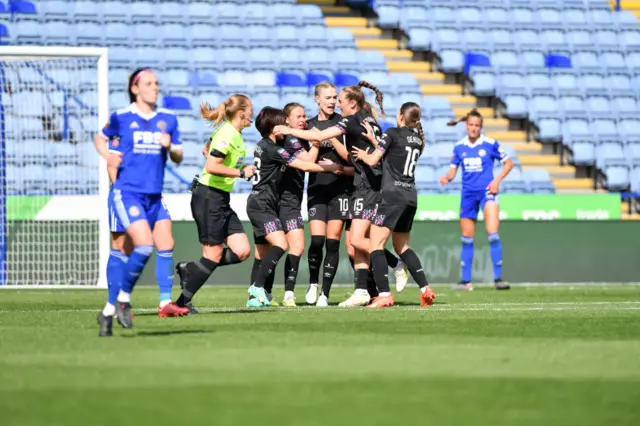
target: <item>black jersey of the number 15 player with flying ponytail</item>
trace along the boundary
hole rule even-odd
[[[351,154],[351,149],[353,147],[363,149],[367,152],[371,152],[374,149],[374,146],[369,142],[369,139],[362,134],[365,132],[365,128],[362,126],[363,121],[366,121],[371,125],[373,128],[373,134],[377,139],[382,136],[382,130],[380,129],[378,122],[365,110],[360,110],[354,115],[343,118],[338,122],[338,127],[345,135],[345,143],[347,145],[347,151],[349,151],[349,158],[356,169],[354,186],[360,187],[365,185],[374,191],[379,191],[382,181],[382,166],[377,164],[371,167],[362,161],[356,161]]]

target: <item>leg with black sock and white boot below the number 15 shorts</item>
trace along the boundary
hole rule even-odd
[[[368,232],[371,222],[364,219],[351,220],[351,245],[354,246],[354,281],[355,291],[349,299],[340,303],[341,307],[365,306],[371,301],[371,296],[367,289],[367,278],[369,275],[369,249],[363,246],[362,241],[369,243]]]

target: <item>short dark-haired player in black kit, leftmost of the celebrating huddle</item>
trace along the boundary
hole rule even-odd
[[[261,261],[252,272],[248,307],[270,305],[264,285],[287,250],[287,239],[279,218],[278,191],[278,184],[285,169],[293,167],[310,172],[335,172],[340,169],[339,164],[328,161],[321,164],[302,161],[277,145],[278,137],[273,129],[276,125],[282,125],[285,122],[284,112],[271,107],[263,108],[256,118],[256,129],[263,139],[258,142],[254,152],[256,171],[252,180],[253,190],[247,199],[247,215],[253,226],[256,258]],[[285,292],[285,297],[286,295]]]

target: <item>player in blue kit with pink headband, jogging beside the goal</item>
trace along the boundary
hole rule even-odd
[[[98,316],[101,336],[111,335],[114,315],[124,328],[132,327],[131,292],[154,244],[158,251],[159,315],[182,316],[189,312],[171,301],[174,242],[171,217],[162,201],[167,157],[175,163],[182,161],[178,121],[171,111],[156,106],[158,79],[150,69],[141,68],[131,74],[128,92],[131,105],[111,114],[100,134],[109,141],[109,152],[121,159],[109,195],[114,213],[112,232],[124,229],[133,244],[126,263],[112,251],[112,258],[120,260],[123,272],[119,279],[108,280],[109,300]],[[113,166],[117,161],[110,159],[108,163]],[[122,228],[118,228],[116,220]],[[111,268],[107,267],[108,272]],[[116,293],[117,287],[121,288]]]

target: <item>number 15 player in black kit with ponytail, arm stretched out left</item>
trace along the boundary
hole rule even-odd
[[[368,122],[374,132],[377,132],[377,136],[380,136],[382,132],[376,120],[363,110],[365,100],[361,87],[367,87],[376,92],[376,102],[380,106],[381,112],[384,113],[382,93],[366,81],[360,81],[357,86],[348,86],[340,91],[338,105],[344,117],[337,125],[325,130],[298,130],[277,126],[274,132],[309,140],[330,140],[345,135],[349,151],[354,147],[363,150],[373,149],[373,145],[363,134],[362,123]],[[355,248],[356,290],[349,299],[340,304],[343,307],[364,306],[371,301],[371,296],[367,290],[370,272],[367,233],[380,202],[380,185],[382,182],[382,167],[380,165],[371,167],[361,161],[355,161],[352,156],[351,162],[356,170],[354,191],[349,206],[349,214],[352,219],[350,243]],[[388,255],[396,262],[399,262],[393,254],[388,253]]]

